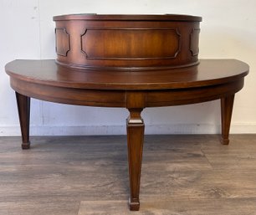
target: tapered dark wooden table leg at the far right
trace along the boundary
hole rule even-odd
[[[229,143],[229,130],[230,122],[233,111],[233,100],[234,95],[228,95],[221,99],[221,109],[222,109],[222,139],[221,142],[223,145],[228,145]]]

